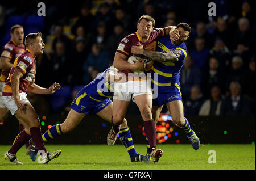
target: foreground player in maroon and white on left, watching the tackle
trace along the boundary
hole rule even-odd
[[[32,138],[36,148],[40,150],[42,163],[48,163],[51,159],[60,155],[61,150],[49,153],[44,147],[40,120],[38,114],[27,99],[27,91],[34,94],[53,94],[60,89],[59,83],[53,83],[49,89],[35,84],[36,60],[38,54],[42,54],[44,43],[41,33],[30,33],[26,36],[26,51],[18,56],[10,70],[6,85],[3,87],[2,100],[12,115],[25,127],[15,138],[13,146],[6,151],[4,157],[14,164],[22,164],[18,161],[16,153]]]

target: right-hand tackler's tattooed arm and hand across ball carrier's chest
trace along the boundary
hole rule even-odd
[[[177,56],[174,53],[172,53],[171,51],[169,51],[167,53],[148,51],[148,50],[145,50],[141,44],[131,47],[131,53],[143,54],[144,56],[146,56],[148,58],[152,58],[153,60],[159,61],[159,62],[177,62],[177,61],[179,61]]]

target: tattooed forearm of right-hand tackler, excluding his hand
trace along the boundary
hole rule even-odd
[[[144,49],[143,55],[159,62],[177,62],[178,61],[177,56],[171,51],[167,53],[162,53],[162,52],[148,51]]]

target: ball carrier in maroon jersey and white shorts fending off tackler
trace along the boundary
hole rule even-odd
[[[135,79],[134,70],[145,70],[149,65],[145,62],[137,61],[135,64],[127,62],[128,58],[133,55],[131,47],[141,44],[145,49],[156,50],[156,41],[162,37],[169,35],[172,26],[166,28],[154,28],[155,20],[148,15],[143,15],[138,20],[137,32],[123,38],[117,48],[114,57],[114,67],[118,69],[119,75],[125,75],[125,78],[116,80],[114,85],[113,97],[113,127],[108,134],[108,144],[114,145],[119,132],[119,125],[122,124],[125,117],[127,107],[132,99],[138,106],[142,119],[144,121],[144,133],[150,145],[150,155],[154,162],[158,162],[163,151],[156,149],[155,121],[152,117],[152,92],[151,82],[147,81],[147,77]],[[131,76],[129,74],[132,74]],[[117,77],[119,77],[117,75]],[[149,85],[148,85],[149,83]]]

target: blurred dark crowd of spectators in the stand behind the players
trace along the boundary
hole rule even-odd
[[[46,47],[36,58],[35,83],[58,82],[61,90],[28,93],[39,115],[67,115],[77,91],[113,63],[119,42],[137,31],[144,14],[155,19],[155,27],[180,22],[192,27],[180,72],[185,115],[255,115],[252,1],[46,1],[46,16],[37,15],[38,2],[0,2],[0,44],[10,40],[14,24],[24,27],[25,36],[43,33]],[[208,15],[209,2],[216,3],[216,16]],[[134,108],[127,113],[139,113]]]

